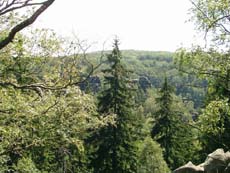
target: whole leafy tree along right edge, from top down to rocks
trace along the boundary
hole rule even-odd
[[[198,118],[203,157],[217,148],[229,150],[230,8],[226,0],[191,0],[192,20],[204,32],[206,47],[181,49],[177,64],[181,71],[208,81],[204,109]]]

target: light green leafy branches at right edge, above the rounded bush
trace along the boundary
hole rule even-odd
[[[206,47],[180,49],[176,62],[181,71],[206,78],[217,93],[229,92],[230,8],[226,0],[190,0],[191,20],[204,32]],[[219,87],[217,87],[219,86]],[[219,91],[217,91],[219,90]],[[229,93],[226,94],[229,96]]]

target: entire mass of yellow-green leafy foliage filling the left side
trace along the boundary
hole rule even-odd
[[[61,42],[36,30],[1,49],[1,172],[89,172],[84,139],[113,122],[98,118],[94,98],[75,86],[80,55],[51,58]]]

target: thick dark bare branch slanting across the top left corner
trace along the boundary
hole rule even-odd
[[[4,18],[4,22],[9,22],[9,20],[7,20],[7,17],[9,17],[9,15],[11,15],[13,12],[18,11],[19,9],[24,9],[25,7],[38,8],[33,12],[30,17],[21,19],[19,23],[15,24],[15,26],[10,26],[12,27],[10,31],[0,38],[0,50],[7,46],[10,42],[12,42],[15,35],[19,31],[31,25],[38,16],[40,16],[50,5],[53,4],[54,1],[55,0],[46,0],[40,2],[35,0],[2,1],[0,3],[0,17]]]

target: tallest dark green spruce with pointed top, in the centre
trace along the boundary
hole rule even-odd
[[[134,173],[136,172],[136,147],[132,125],[132,83],[129,71],[121,62],[118,40],[107,56],[109,68],[105,73],[105,90],[98,98],[98,111],[101,116],[116,115],[115,125],[99,131],[95,158],[92,165],[95,173]]]

